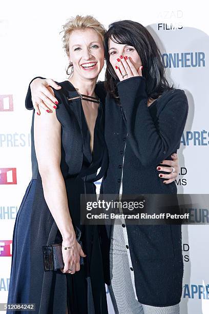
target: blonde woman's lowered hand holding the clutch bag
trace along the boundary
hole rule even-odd
[[[75,239],[75,237],[74,237]],[[62,258],[64,261],[64,268],[61,268],[61,272],[73,274],[76,271],[80,270],[80,257],[86,257],[86,254],[83,252],[80,244],[74,241],[62,241],[62,245],[71,247],[70,249],[62,246]],[[69,270],[72,269],[72,270]]]

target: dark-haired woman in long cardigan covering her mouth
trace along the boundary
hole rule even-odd
[[[158,176],[158,171],[174,170],[170,156],[180,145],[186,96],[169,87],[156,43],[139,23],[113,23],[105,36],[105,49],[109,164],[101,192],[176,193],[175,183],[161,181],[165,174]],[[34,102],[37,97],[50,107],[53,97],[48,91],[48,99],[41,98],[49,83],[57,88],[51,81],[41,83],[41,88],[39,81],[33,82]],[[180,226],[133,226],[121,221],[104,228],[101,235],[115,312],[177,314],[183,274]]]

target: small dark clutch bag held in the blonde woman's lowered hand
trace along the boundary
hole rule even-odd
[[[82,248],[82,242],[80,241],[81,232],[78,233],[76,240]],[[44,245],[44,271],[58,270],[64,268],[64,262],[62,259],[61,243]],[[80,265],[83,265],[83,258],[80,257]]]

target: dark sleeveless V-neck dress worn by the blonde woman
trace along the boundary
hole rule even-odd
[[[106,314],[108,309],[98,227],[80,224],[80,194],[95,194],[93,182],[103,175],[96,175],[106,154],[102,104],[100,102],[98,109],[92,154],[90,132],[81,101],[68,100],[76,97],[77,91],[69,81],[59,85],[62,89],[54,92],[59,101],[56,115],[61,123],[60,169],[66,184],[72,222],[81,231],[83,251],[87,257],[75,274],[64,274],[60,270],[44,271],[43,245],[60,243],[62,238],[44,199],[34,149],[33,110],[33,176],[14,225],[8,303],[35,303],[35,313],[39,314],[66,314],[66,305],[69,314]]]

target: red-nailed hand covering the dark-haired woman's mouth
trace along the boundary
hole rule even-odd
[[[140,66],[138,70],[135,68],[134,64],[131,61],[131,57],[120,56],[115,61],[115,73],[117,74],[120,81],[124,81],[127,78],[134,76],[142,76],[143,66]]]

